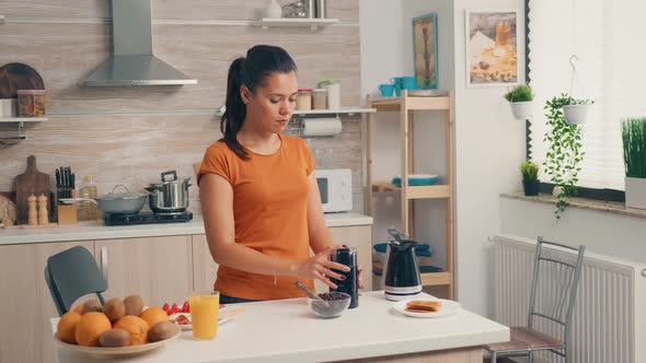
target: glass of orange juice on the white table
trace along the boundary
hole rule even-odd
[[[193,339],[208,340],[218,335],[218,313],[220,293],[217,291],[195,291],[188,298]]]

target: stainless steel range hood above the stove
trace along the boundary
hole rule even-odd
[[[113,54],[85,86],[197,84],[152,54],[150,0],[112,0]]]

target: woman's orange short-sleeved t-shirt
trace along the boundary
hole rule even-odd
[[[214,173],[233,188],[235,243],[280,259],[310,258],[308,233],[308,176],[314,159],[299,138],[280,137],[280,149],[272,155],[246,150],[243,161],[222,141],[210,145],[199,168],[199,177]],[[205,202],[205,201],[203,201]],[[293,277],[251,273],[220,266],[216,290],[229,296],[275,300],[304,296]],[[303,281],[313,289],[313,281]]]

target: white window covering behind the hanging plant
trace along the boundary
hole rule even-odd
[[[595,101],[582,126],[586,156],[579,186],[624,189],[621,120],[646,116],[645,16],[646,4],[638,0],[530,0],[533,161],[545,159],[545,101],[572,92]],[[542,180],[549,182],[546,174]]]

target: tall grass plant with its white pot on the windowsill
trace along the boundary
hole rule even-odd
[[[646,209],[646,118],[628,118],[622,124],[626,167],[626,207]]]

